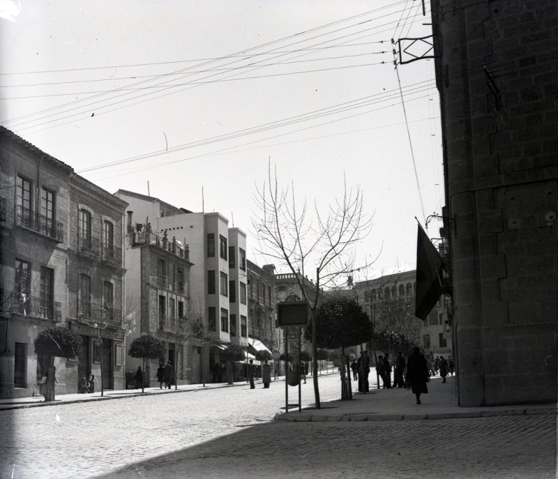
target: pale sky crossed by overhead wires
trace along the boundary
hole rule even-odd
[[[270,162],[312,208],[334,203],[345,176],[373,215],[357,264],[375,262],[355,280],[409,271],[415,217],[444,206],[434,63],[393,63],[398,40],[431,34],[425,12],[417,0],[0,0],[0,124],[109,192],[222,213],[260,265],[254,196]],[[404,61],[426,50],[402,42]]]

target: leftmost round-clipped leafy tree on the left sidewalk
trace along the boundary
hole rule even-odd
[[[54,358],[76,358],[82,349],[82,338],[74,331],[66,328],[51,328],[38,333],[34,344],[37,356],[46,360],[45,401],[54,401],[54,386],[56,384]]]

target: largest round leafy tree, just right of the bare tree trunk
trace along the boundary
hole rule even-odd
[[[372,339],[372,324],[368,314],[352,298],[332,298],[320,305],[316,312],[316,329],[317,346],[341,349],[346,372],[350,369],[345,348]],[[312,337],[312,325],[306,328],[304,334],[308,339]],[[351,395],[347,392],[342,397],[349,399]]]

